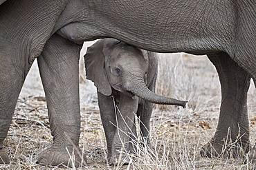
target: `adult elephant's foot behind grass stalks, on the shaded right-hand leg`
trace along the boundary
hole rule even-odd
[[[245,153],[248,152],[248,149],[249,145],[242,147],[241,142],[224,142],[224,140],[217,141],[212,138],[202,147],[200,154],[202,157],[208,158],[238,158],[245,156]]]

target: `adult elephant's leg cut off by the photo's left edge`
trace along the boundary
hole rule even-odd
[[[0,39],[0,164],[10,162],[3,141],[12,122],[21,87],[32,65],[21,49],[16,43]]]

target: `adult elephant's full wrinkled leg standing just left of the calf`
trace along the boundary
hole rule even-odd
[[[53,145],[37,156],[41,164],[64,162],[75,167],[85,161],[78,147],[80,137],[80,101],[78,61],[80,47],[54,34],[38,57],[39,72],[44,85]],[[84,162],[85,163],[85,162]]]

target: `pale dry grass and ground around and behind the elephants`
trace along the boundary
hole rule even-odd
[[[188,107],[155,105],[152,115],[152,149],[141,149],[127,166],[105,164],[107,145],[100,122],[95,87],[81,78],[82,127],[80,147],[88,166],[82,169],[254,169],[241,159],[201,158],[201,147],[217,127],[220,87],[217,72],[205,56],[161,54],[156,92],[182,100]],[[33,66],[19,97],[14,119],[4,145],[10,164],[0,169],[68,169],[35,164],[35,155],[51,145],[44,92],[37,68]],[[42,96],[42,97],[41,97]],[[255,142],[256,90],[248,93],[252,143]],[[73,168],[74,169],[74,168]]]

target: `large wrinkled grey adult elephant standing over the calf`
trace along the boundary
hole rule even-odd
[[[202,156],[218,156],[228,128],[232,142],[250,149],[247,92],[256,84],[256,3],[252,0],[100,1],[0,0],[0,156],[24,79],[38,57],[53,145],[42,164],[80,161],[78,54],[83,41],[113,37],[154,52],[207,54],[221,82],[217,131]],[[241,150],[241,149],[239,149]],[[239,154],[235,149],[234,154]],[[85,158],[85,157],[84,157]],[[255,156],[250,154],[255,160]],[[75,166],[80,163],[76,162]]]

